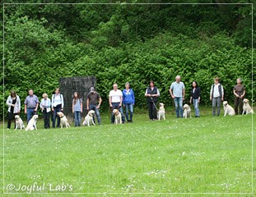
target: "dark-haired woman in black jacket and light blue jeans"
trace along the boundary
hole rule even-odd
[[[200,97],[201,97],[201,89],[198,87],[198,82],[193,81],[191,97],[190,97],[190,104],[192,103],[192,100],[193,100],[193,108],[194,108],[195,117],[200,117],[200,112],[199,112]]]

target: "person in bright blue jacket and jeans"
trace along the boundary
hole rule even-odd
[[[130,88],[128,82],[125,83],[125,89],[123,89],[123,108],[125,108],[125,116],[128,122],[133,122],[133,105],[135,103],[133,89]],[[128,116],[130,112],[130,118]]]

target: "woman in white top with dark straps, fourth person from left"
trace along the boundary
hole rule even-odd
[[[55,121],[57,112],[62,112],[64,108],[63,94],[59,94],[59,89],[55,89],[55,94],[52,96],[52,111],[54,112],[53,127],[55,128]],[[60,118],[58,117],[57,127],[59,127]]]

